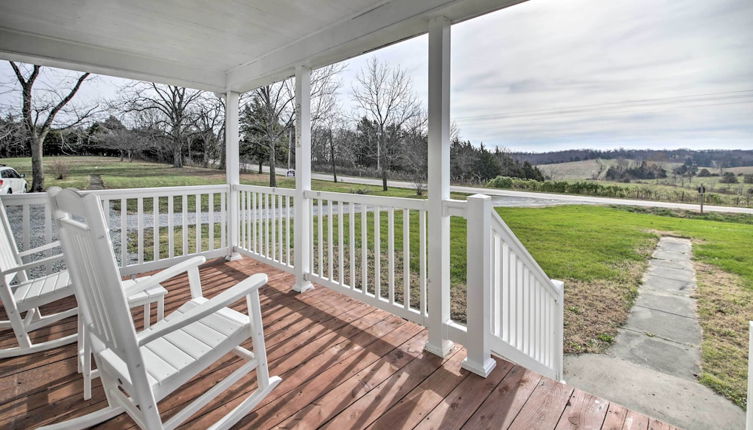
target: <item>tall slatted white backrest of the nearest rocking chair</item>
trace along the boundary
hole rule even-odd
[[[51,189],[65,263],[73,281],[80,315],[99,352],[110,349],[126,365],[131,380],[146,382],[133,319],[121,284],[104,214],[94,195]]]

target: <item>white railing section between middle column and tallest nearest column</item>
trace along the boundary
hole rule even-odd
[[[426,325],[427,202],[322,191],[305,197],[309,280]]]

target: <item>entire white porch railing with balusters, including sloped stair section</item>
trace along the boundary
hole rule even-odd
[[[236,185],[238,243],[230,243],[227,185],[87,191],[106,209],[124,275],[194,255],[233,251],[294,272],[296,223],[308,223],[308,281],[441,330],[468,350],[464,366],[486,375],[493,352],[562,378],[563,287],[550,280],[487,196],[446,200],[467,219],[467,323],[428,318],[426,200],[306,191],[311,217],[296,220],[295,191]],[[22,249],[54,239],[45,193],[2,196]],[[300,227],[300,225],[299,225]],[[449,306],[449,303],[448,303]]]

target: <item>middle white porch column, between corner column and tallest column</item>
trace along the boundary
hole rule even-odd
[[[304,196],[311,190],[311,70],[295,69],[295,285],[300,293],[313,288],[306,279],[311,262],[311,211]]]

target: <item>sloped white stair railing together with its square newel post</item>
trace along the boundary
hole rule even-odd
[[[549,279],[492,208],[488,196],[471,196],[465,207],[468,232],[465,345],[469,359],[474,358],[471,367],[482,373],[485,357],[491,351],[554,380],[562,380],[563,283]]]

